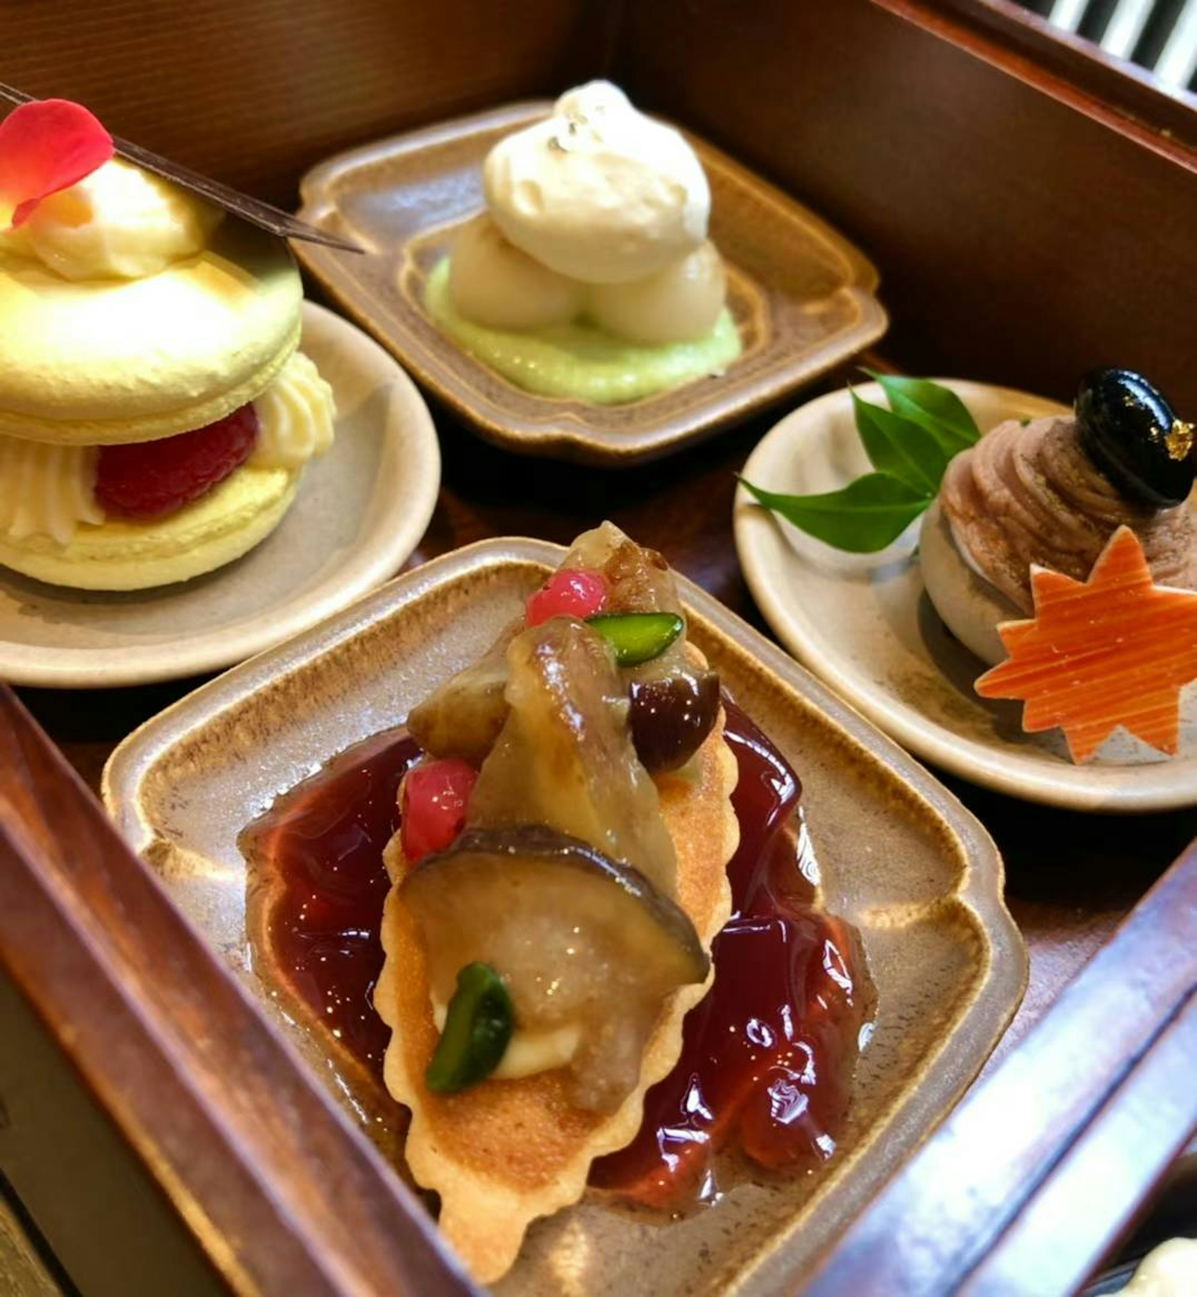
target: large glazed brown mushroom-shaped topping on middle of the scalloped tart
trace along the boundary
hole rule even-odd
[[[576,1031],[572,1101],[611,1112],[635,1087],[663,1000],[702,982],[708,961],[674,899],[673,839],[606,641],[554,617],[512,638],[507,673],[466,829],[402,895],[434,1001],[466,965],[499,969],[523,1031]]]

